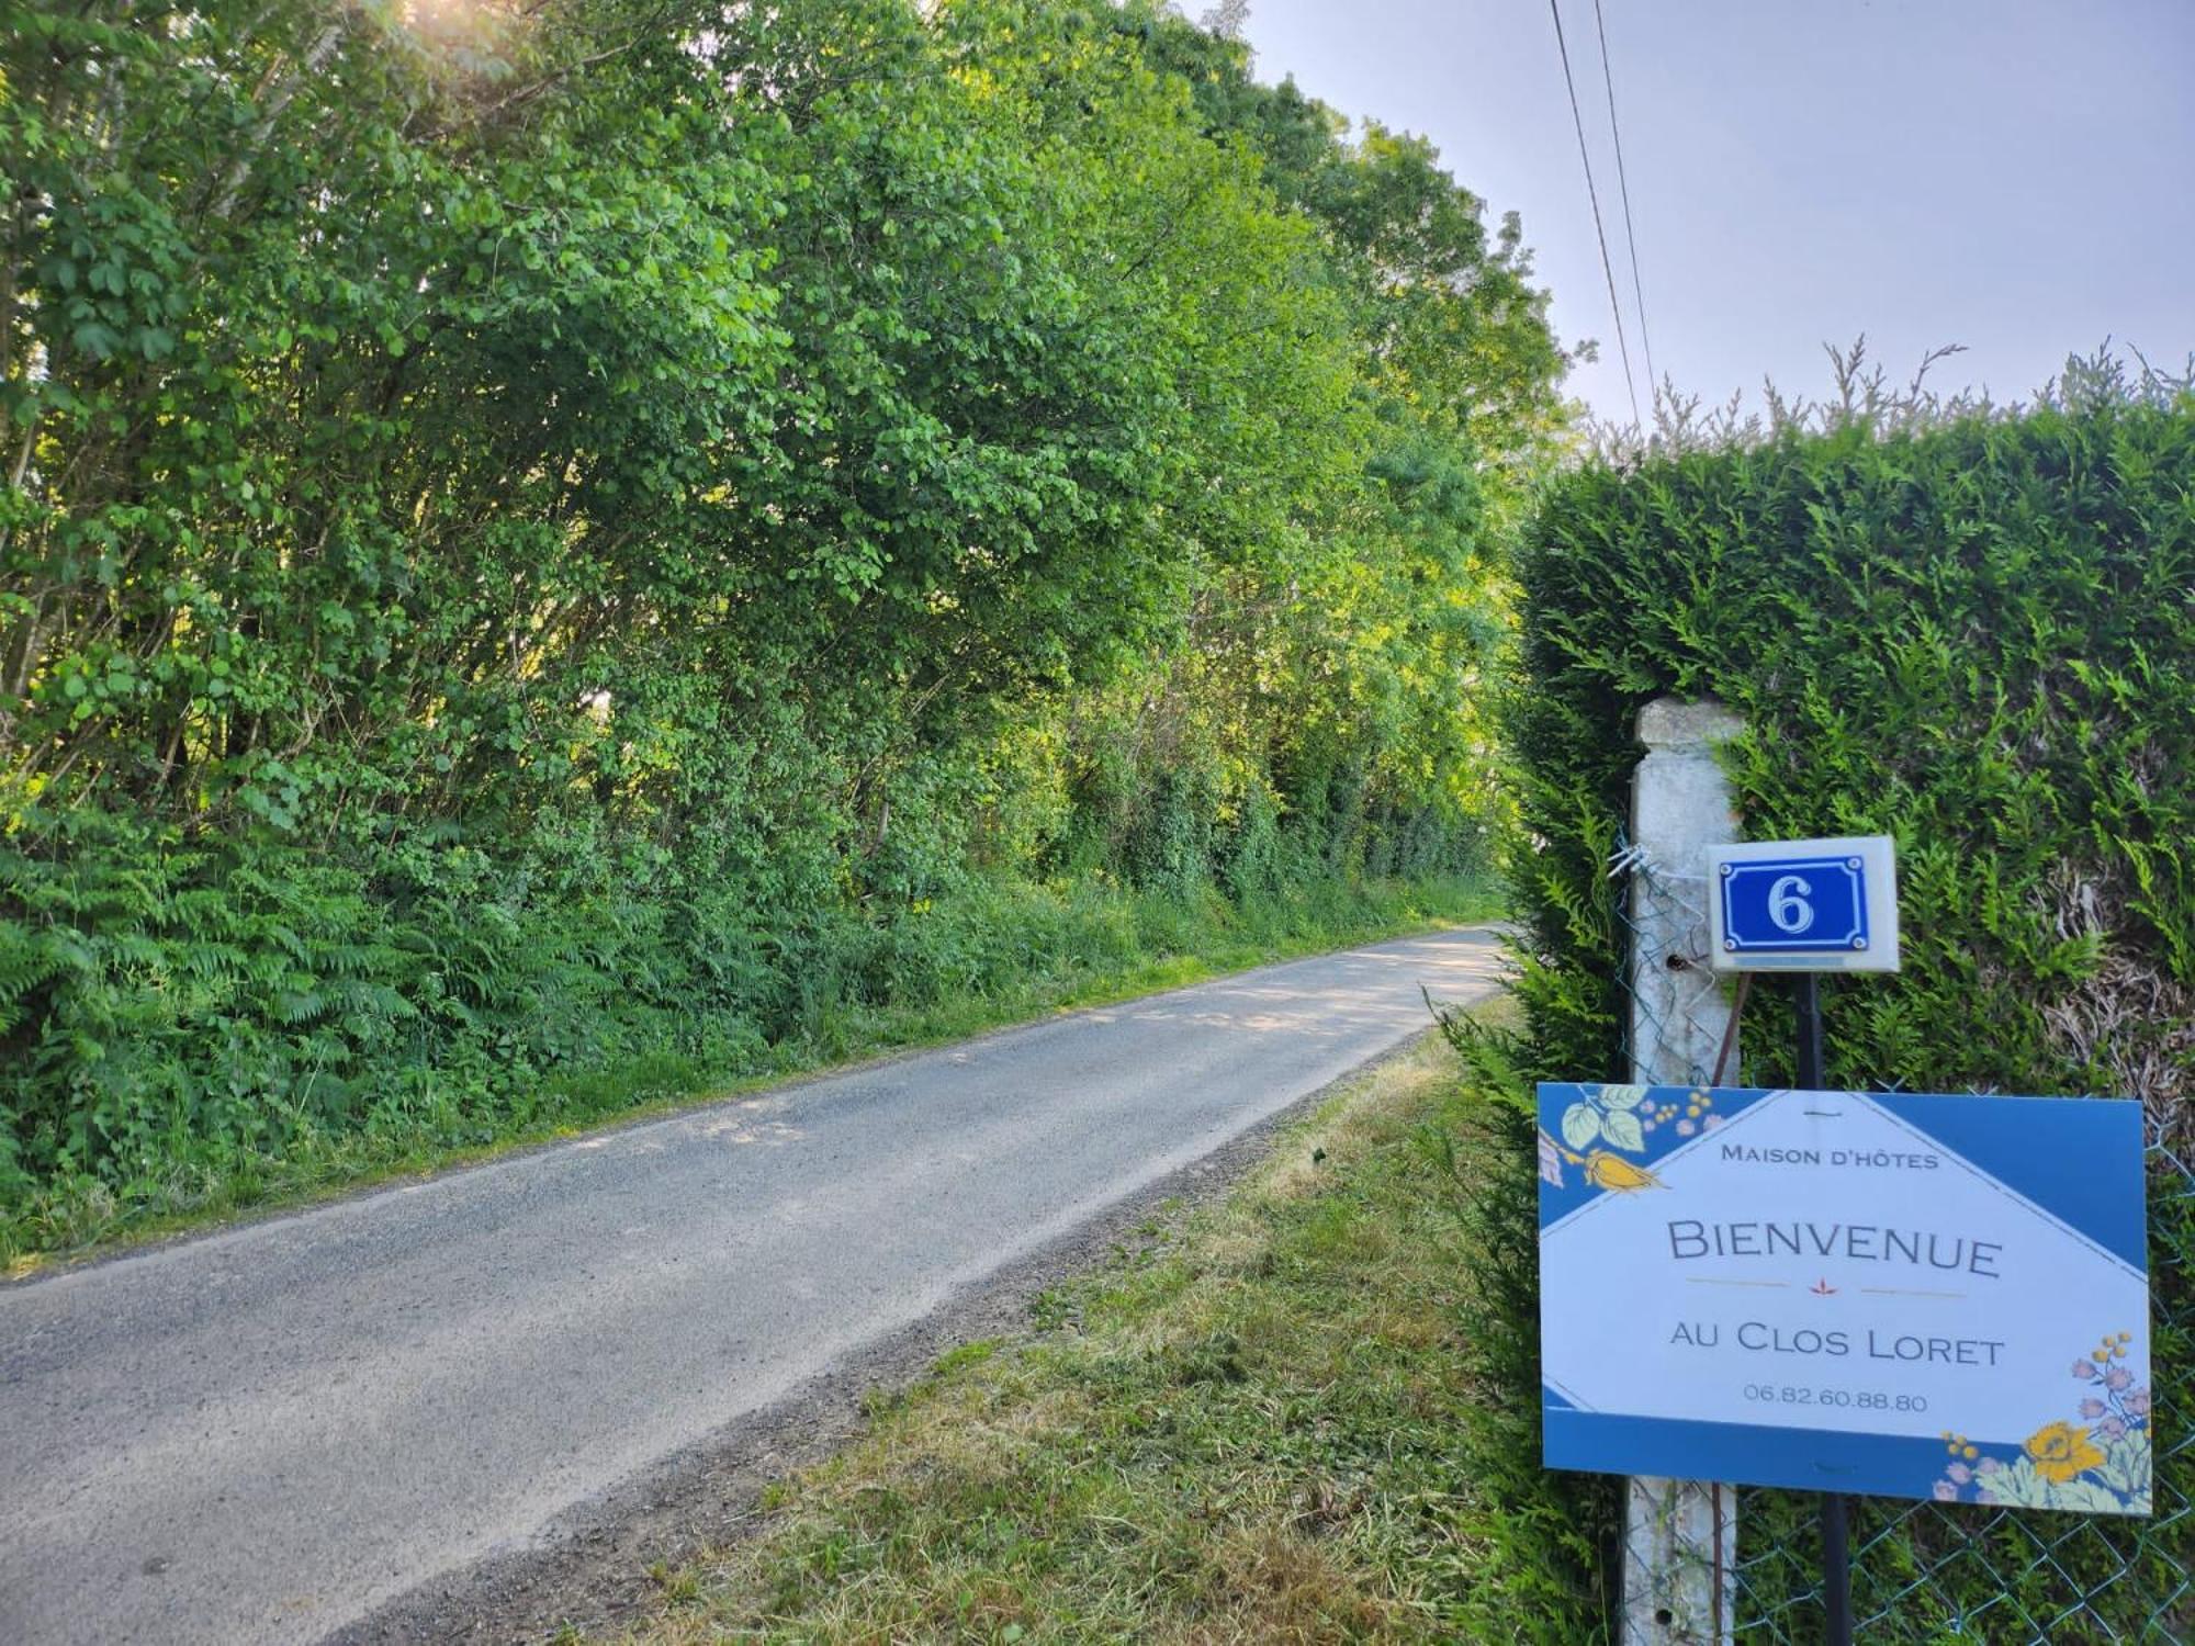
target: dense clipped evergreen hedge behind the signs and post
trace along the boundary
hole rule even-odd
[[[1905,970],[1824,981],[1833,1082],[2147,1104],[2164,1146],[2155,1363],[2184,1383],[2191,498],[2195,402],[2107,377],[2015,417],[1921,432],[1861,419],[1594,465],[1550,496],[1521,562],[1523,678],[1508,709],[1528,1027],[1462,1036],[1484,1124],[1512,1150],[1510,1183],[1482,1203],[1479,1341],[1508,1398],[1477,1444],[1521,1519],[1589,1527],[1605,1547],[1613,1536],[1611,1492],[1536,1468],[1528,1082],[1624,1078],[1622,882],[1609,863],[1637,762],[1631,724],[1662,694],[1721,698],[1745,720],[1727,768],[1749,836],[1896,836]],[[1793,1078],[1780,990],[1752,992],[1743,1056],[1749,1080]],[[2158,1411],[2155,1530],[2098,1523],[2065,1538],[2065,1521],[1870,1503],[1861,1613],[1896,1600],[1896,1626],[1877,1626],[1886,1639],[2024,1637],[2015,1617],[2044,1637],[2076,1611],[2070,1633],[2180,1637],[2188,1617],[2155,1609],[2184,1606],[2173,1596],[2195,1558],[2195,1448],[2184,1400]],[[1817,1545],[1804,1499],[1760,1495],[1747,1517],[1747,1582],[1789,1585],[1754,1596],[1758,1615],[1804,1593]],[[1574,1639],[1607,1604],[1609,1574],[1545,1541],[1488,1580],[1543,1609],[1550,1639]]]

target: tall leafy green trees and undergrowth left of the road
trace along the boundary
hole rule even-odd
[[[94,0],[0,59],[0,1192],[1477,838],[1515,224],[1135,0]]]

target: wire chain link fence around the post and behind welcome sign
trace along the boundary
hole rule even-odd
[[[1620,882],[1611,898],[1624,928],[1620,948],[1633,957],[1622,972],[1626,1064],[1633,1053],[1646,1053],[1648,1064],[1666,1053],[1695,1084],[1719,1073],[1741,1084],[1736,1018],[1747,1005],[1778,1005],[1741,981],[1734,1014],[1721,983],[1692,963],[1708,952],[1706,878],[1670,873],[1622,838],[1609,873]],[[2149,1130],[2160,1137],[2155,1115]],[[1857,1639],[2195,1642],[2195,1429],[2184,1405],[2186,1367],[2195,1365],[2195,1165],[2162,1139],[2149,1148],[2149,1244],[2153,1514],[1853,1499]],[[1736,1490],[1734,1510],[1732,1567],[1708,1574],[1727,1617],[1701,1639],[1822,1642],[1820,1497],[1747,1486]],[[1624,1549],[1624,1558],[1637,1554]]]

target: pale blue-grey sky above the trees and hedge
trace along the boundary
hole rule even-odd
[[[1183,11],[1198,15],[1196,0]],[[2105,338],[2195,349],[2195,0],[1561,0],[1631,369],[1710,402],[1828,388],[1868,336],[1896,380],[2022,399]],[[1431,138],[1523,215],[1569,393],[1629,421],[1547,0],[1251,0],[1258,79]]]

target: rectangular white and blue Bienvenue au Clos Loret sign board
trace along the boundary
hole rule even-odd
[[[1550,1468],[2149,1512],[2140,1104],[1543,1084],[1539,1126]]]

